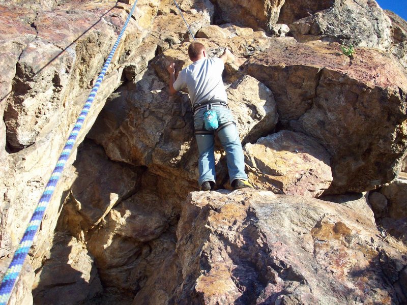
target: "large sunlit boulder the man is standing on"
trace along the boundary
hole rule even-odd
[[[342,204],[247,189],[193,192],[177,228],[183,284],[175,302],[398,303],[405,246],[376,233],[371,219]]]

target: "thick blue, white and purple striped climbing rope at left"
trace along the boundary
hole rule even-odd
[[[17,251],[14,253],[13,260],[11,261],[9,268],[7,269],[7,272],[2,280],[2,284],[0,286],[0,305],[6,305],[10,298],[11,292],[13,291],[14,288],[14,284],[17,281],[18,276],[20,275],[20,271],[22,269],[24,260],[28,254],[28,251],[33,245],[34,236],[37,233],[38,228],[41,224],[45,209],[47,208],[48,203],[51,200],[56,184],[62,175],[62,172],[64,170],[66,162],[68,161],[69,156],[71,155],[72,148],[74,147],[76,142],[76,137],[78,136],[78,133],[82,128],[84,120],[92,106],[92,103],[95,100],[96,93],[98,92],[100,84],[102,83],[102,80],[106,74],[107,68],[110,65],[111,59],[113,58],[113,55],[119,46],[119,42],[122,39],[122,36],[126,30],[127,24],[129,23],[131,16],[133,15],[137,1],[138,0],[134,2],[134,5],[129,13],[129,16],[127,17],[127,20],[123,25],[122,31],[120,32],[117,41],[115,42],[113,48],[111,49],[106,59],[106,62],[103,66],[103,69],[100,72],[96,80],[96,83],[91,90],[88,100],[86,100],[85,105],[83,106],[82,111],[80,112],[76,120],[75,126],[71,134],[69,135],[67,142],[65,143],[64,149],[62,150],[60,158],[58,159],[56,166],[52,172],[51,178],[48,180],[47,186],[45,187],[45,190],[42,193],[42,196],[34,211],[31,221],[25,230],[24,236],[22,237],[19,243]]]

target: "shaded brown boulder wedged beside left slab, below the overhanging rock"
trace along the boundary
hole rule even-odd
[[[103,148],[91,141],[82,143],[73,167],[74,182],[60,222],[80,238],[82,231],[95,227],[114,205],[140,188],[141,171],[108,160]]]

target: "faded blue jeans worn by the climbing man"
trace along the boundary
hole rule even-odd
[[[205,129],[203,126],[203,113],[206,108],[200,109],[194,117],[195,130]],[[219,126],[229,121],[234,121],[230,110],[224,106],[213,106],[216,111]],[[245,173],[245,163],[243,156],[242,143],[240,142],[238,129],[235,124],[230,124],[221,129],[218,133],[220,142],[226,151],[226,163],[229,171],[229,182],[235,179],[247,180]],[[198,144],[199,158],[199,186],[205,181],[215,182],[215,155],[214,155],[214,134],[199,135],[196,134],[196,143]]]

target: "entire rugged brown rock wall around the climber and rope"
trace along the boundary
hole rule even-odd
[[[178,3],[210,56],[233,54],[259,190],[225,190],[216,142],[219,191],[193,192],[193,115],[166,71],[191,37],[172,1],[141,0],[10,304],[406,303],[402,182],[386,186],[406,155],[405,21],[370,0]],[[0,4],[0,273],[132,4]]]

